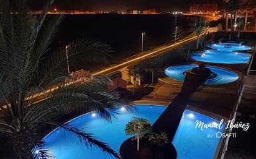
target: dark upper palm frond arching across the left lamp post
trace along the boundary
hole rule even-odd
[[[74,40],[69,45],[62,46],[50,54],[49,58],[42,59],[39,64],[39,75],[37,81],[40,81],[40,86],[47,87],[49,81],[52,81],[53,74],[67,73],[66,67],[66,54],[70,63],[78,61],[87,62],[107,62],[111,48],[104,43],[99,43],[93,40]],[[72,60],[74,57],[79,56],[78,60]]]

